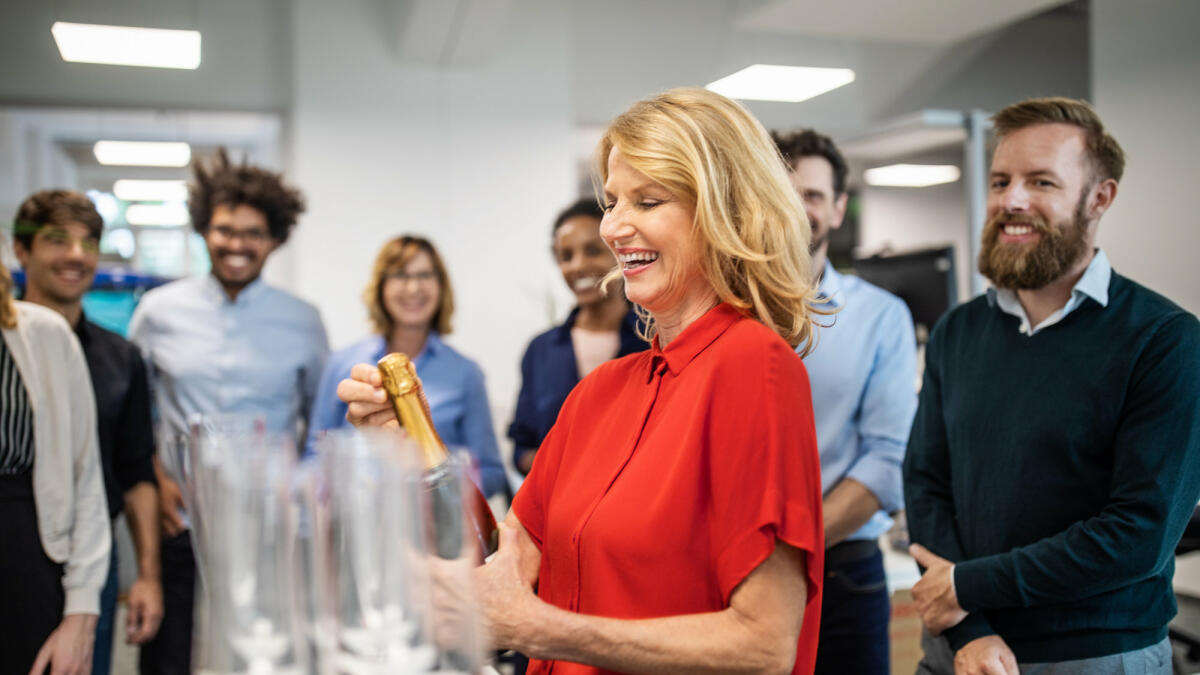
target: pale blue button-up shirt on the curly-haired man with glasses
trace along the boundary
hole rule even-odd
[[[146,357],[162,431],[185,434],[196,413],[254,414],[269,431],[296,434],[298,446],[329,356],[317,307],[262,279],[230,300],[212,275],[146,293],[130,341]],[[160,459],[178,478],[175,458]]]

